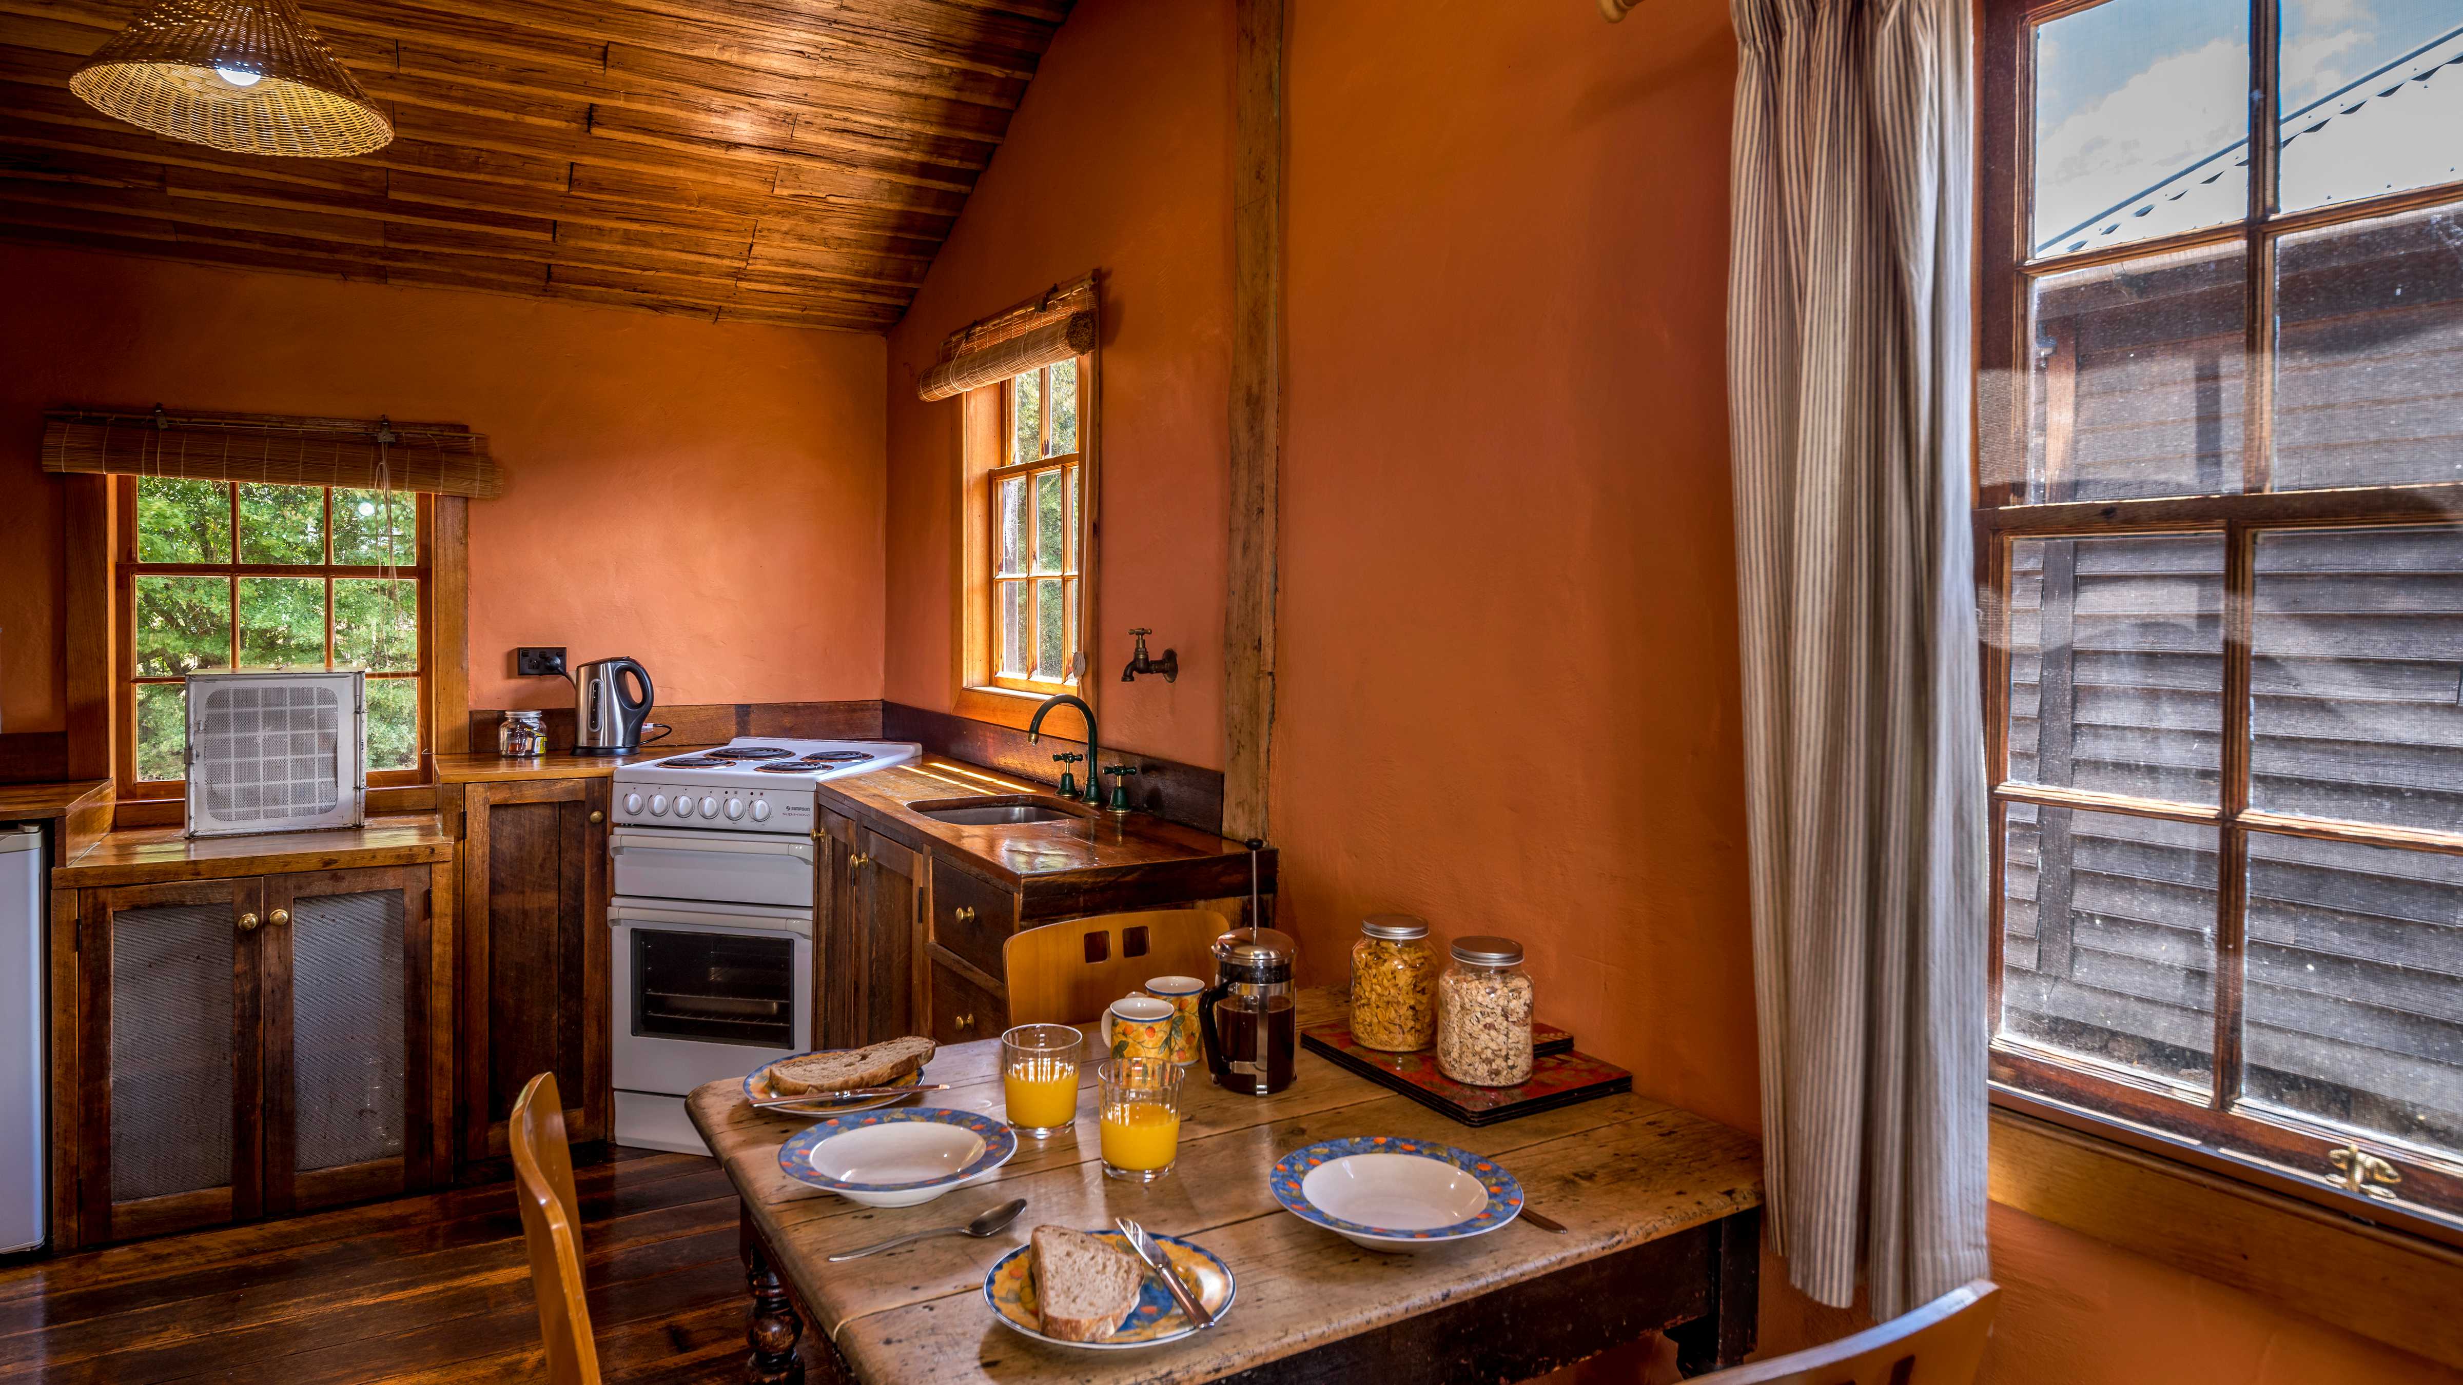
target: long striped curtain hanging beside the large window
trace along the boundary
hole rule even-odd
[[[1968,0],[1734,0],[1729,409],[1768,1225],[1985,1274]]]

